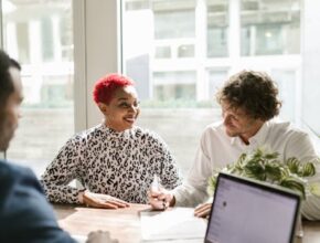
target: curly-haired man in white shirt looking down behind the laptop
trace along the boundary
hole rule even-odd
[[[296,157],[302,162],[317,161],[317,152],[309,136],[294,128],[289,123],[273,119],[279,114],[281,103],[275,82],[265,73],[242,71],[232,76],[216,94],[222,108],[223,120],[211,124],[204,130],[195,160],[182,186],[174,190],[159,190],[150,193],[149,202],[161,209],[168,204],[195,207],[195,215],[206,216],[212,200],[207,201],[209,178],[218,170],[235,162],[241,154],[257,148],[279,152],[279,159]],[[320,180],[319,163],[312,180]],[[307,196],[301,213],[309,220],[320,219],[320,200]]]

